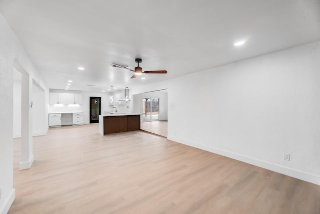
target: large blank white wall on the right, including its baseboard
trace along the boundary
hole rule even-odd
[[[168,139],[320,184],[319,59],[317,42],[134,92],[168,88]]]

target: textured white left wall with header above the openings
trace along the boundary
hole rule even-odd
[[[19,64],[45,91],[48,89],[26,55],[18,39],[0,14],[0,213],[5,213],[14,199],[13,189],[13,67]],[[47,109],[46,109],[47,112]]]

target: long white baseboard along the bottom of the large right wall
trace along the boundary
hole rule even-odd
[[[235,159],[235,160],[239,160],[239,161],[242,161],[242,162],[245,162],[245,163],[249,163],[249,164],[252,164],[252,165],[255,165],[255,166],[259,166],[261,168],[265,168],[265,169],[268,169],[268,170],[271,170],[271,171],[275,171],[275,172],[278,172],[278,173],[281,173],[281,174],[285,174],[285,175],[288,175],[290,177],[295,177],[295,178],[298,178],[298,179],[301,179],[301,180],[304,180],[304,181],[307,181],[307,182],[310,182],[310,183],[314,183],[314,184],[320,185],[320,176],[315,175],[315,174],[311,174],[311,173],[308,173],[308,172],[303,172],[303,171],[300,171],[300,170],[297,170],[297,169],[281,166],[281,165],[270,163],[270,162],[267,162],[267,161],[264,161],[264,160],[259,160],[259,159],[248,157],[248,156],[245,156],[245,155],[233,153],[233,152],[230,152],[230,151],[227,151],[227,150],[223,150],[223,149],[219,149],[219,148],[215,148],[215,147],[212,147],[212,146],[208,146],[208,145],[204,145],[204,144],[200,144],[200,143],[195,143],[195,142],[190,142],[190,141],[187,141],[187,140],[178,139],[178,138],[175,138],[175,137],[172,137],[172,136],[167,136],[167,139],[175,141],[175,142],[178,142],[178,143],[182,143],[182,144],[185,144],[185,145],[188,145],[188,146],[192,146],[192,147],[195,147],[195,148],[199,148],[199,149],[202,149],[202,150],[205,150],[205,151],[209,151],[209,152],[212,152],[212,153],[215,153],[215,154],[219,154],[219,155],[222,155],[222,156],[225,156],[225,157],[229,157],[229,158],[232,158],[232,159]]]

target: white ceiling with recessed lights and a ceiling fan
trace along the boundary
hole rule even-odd
[[[319,0],[0,0],[0,13],[54,89],[134,87],[320,40]],[[136,57],[168,74],[110,67]]]

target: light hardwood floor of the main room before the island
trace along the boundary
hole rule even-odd
[[[33,138],[8,213],[320,213],[320,186],[142,131],[97,124]]]

